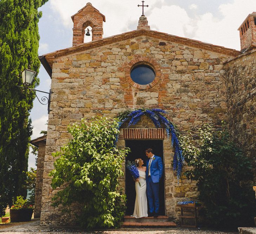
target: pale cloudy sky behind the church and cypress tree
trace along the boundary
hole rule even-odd
[[[108,37],[137,29],[142,14],[140,0],[90,0],[106,17],[104,35]],[[71,16],[86,5],[86,0],[49,0],[40,8],[39,55],[72,46],[73,22]],[[240,50],[237,28],[248,14],[256,11],[255,0],[145,0],[144,10],[152,30],[195,39],[214,45]],[[87,41],[91,37],[86,37]],[[41,66],[39,90],[50,89],[51,79]],[[39,93],[40,96],[40,93]],[[31,111],[34,126],[32,139],[47,130],[47,107],[34,101]],[[35,159],[30,154],[29,166]]]

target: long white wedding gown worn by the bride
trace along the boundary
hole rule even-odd
[[[146,172],[139,170],[139,182],[135,182],[136,199],[132,215],[135,218],[147,217]]]

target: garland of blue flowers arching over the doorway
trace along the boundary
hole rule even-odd
[[[134,111],[124,111],[121,112],[117,118],[119,119],[119,129],[123,125],[124,122],[129,120],[128,127],[131,125],[135,125],[141,118],[142,115],[149,116],[149,118],[153,121],[157,128],[161,127],[161,123],[165,126],[166,133],[168,138],[171,135],[171,145],[175,148],[175,152],[173,155],[173,171],[177,172],[177,179],[181,176],[182,166],[184,162],[184,157],[182,155],[182,149],[179,143],[179,132],[177,128],[172,124],[170,120],[168,120],[164,114],[167,114],[166,111],[162,109],[136,109]]]

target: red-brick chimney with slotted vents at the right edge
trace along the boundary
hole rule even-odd
[[[237,29],[240,32],[241,52],[256,48],[256,12],[252,12]]]

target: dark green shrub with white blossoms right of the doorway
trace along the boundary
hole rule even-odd
[[[204,126],[199,129],[197,143],[191,136],[181,138],[185,161],[192,166],[185,175],[197,181],[207,224],[252,225],[255,198],[250,185],[251,161],[231,140],[227,129],[212,131],[211,126]]]

